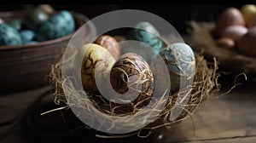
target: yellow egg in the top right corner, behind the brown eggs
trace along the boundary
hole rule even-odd
[[[246,4],[241,7],[241,14],[244,17],[247,27],[252,26],[253,16],[256,15],[256,6],[254,4]]]

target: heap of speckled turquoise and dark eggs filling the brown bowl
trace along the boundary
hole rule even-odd
[[[44,42],[67,36],[74,30],[73,14],[67,10],[55,12],[43,4],[27,9],[20,19],[5,22],[0,18],[0,46]]]

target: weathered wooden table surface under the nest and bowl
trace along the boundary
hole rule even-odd
[[[0,123],[9,119],[19,117],[24,114],[26,107],[29,106],[40,94],[48,90],[49,87],[31,89],[12,94],[0,95]],[[47,95],[42,103],[48,103],[53,106],[51,96]],[[37,129],[32,130],[24,126],[26,122],[17,123],[15,128],[6,136],[0,139],[1,143],[25,143],[25,142],[256,142],[256,83],[237,86],[230,94],[224,96],[212,97],[201,105],[195,114],[184,120],[182,123],[172,126],[171,129],[160,129],[151,134],[146,139],[131,136],[123,139],[99,139],[87,133],[84,130],[68,137],[67,134],[60,134],[60,130],[55,130],[57,127],[58,116],[45,119],[45,129],[49,131],[38,132]],[[45,106],[44,106],[45,107]],[[40,106],[38,107],[40,108]],[[44,112],[45,108],[41,108]],[[25,120],[23,117],[22,120]],[[43,117],[44,118],[44,117]],[[54,123],[55,121],[56,123]],[[47,124],[49,123],[49,124]],[[56,127],[54,127],[56,126]],[[61,126],[61,125],[60,125]],[[11,125],[0,126],[0,136],[9,129]],[[43,126],[42,126],[43,127]],[[40,128],[38,128],[40,130]],[[65,128],[63,128],[65,129]],[[49,139],[47,135],[49,135]],[[70,132],[69,132],[70,133]],[[3,136],[3,135],[2,135]],[[52,139],[52,136],[58,136],[57,139]],[[64,140],[60,140],[64,139]],[[46,140],[46,141],[45,141]],[[57,141],[56,141],[57,140]]]

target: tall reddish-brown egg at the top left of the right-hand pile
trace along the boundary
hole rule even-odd
[[[239,9],[225,9],[215,23],[215,32],[220,36],[228,26],[245,26],[245,20]]]

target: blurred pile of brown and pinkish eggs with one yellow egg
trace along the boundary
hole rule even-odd
[[[215,23],[214,32],[218,46],[256,56],[256,6],[246,4],[241,9],[225,9]]]

